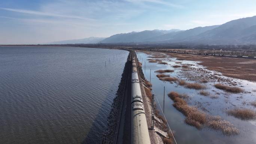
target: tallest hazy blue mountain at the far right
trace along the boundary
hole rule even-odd
[[[189,41],[207,44],[249,44],[256,39],[256,16],[226,22],[212,30],[205,31]]]

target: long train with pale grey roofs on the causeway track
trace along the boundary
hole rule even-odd
[[[132,58],[131,144],[150,144],[135,58]]]

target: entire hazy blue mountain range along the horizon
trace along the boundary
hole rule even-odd
[[[74,42],[82,42],[83,39]],[[72,41],[62,41],[61,44]],[[89,41],[87,41],[89,42]],[[189,30],[145,30],[115,34],[106,39],[94,39],[90,43],[198,43],[209,45],[256,44],[256,16],[241,18],[222,25],[196,27]],[[83,42],[86,43],[86,42]],[[56,43],[57,44],[57,43]],[[59,43],[58,43],[59,44]]]

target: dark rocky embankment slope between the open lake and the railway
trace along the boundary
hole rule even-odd
[[[125,96],[125,88],[128,83],[128,75],[130,72],[130,56],[131,52],[128,55],[127,62],[125,63],[124,71],[122,73],[121,82],[118,86],[118,91],[116,92],[116,97],[113,100],[111,111],[107,119],[107,129],[103,135],[102,144],[116,143],[119,130],[119,122],[122,111],[122,103]]]

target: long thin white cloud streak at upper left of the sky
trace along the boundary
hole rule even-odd
[[[83,19],[83,20],[94,20],[90,18],[83,18],[80,16],[72,16],[72,15],[59,15],[59,14],[54,14],[54,13],[47,13],[47,12],[39,12],[39,11],[34,11],[34,10],[24,10],[24,9],[11,9],[11,8],[6,8],[6,7],[0,7],[2,10],[7,10],[11,12],[19,12],[19,13],[27,13],[31,15],[43,15],[43,16],[53,16],[53,17],[61,17],[61,18],[73,18],[73,19]]]

